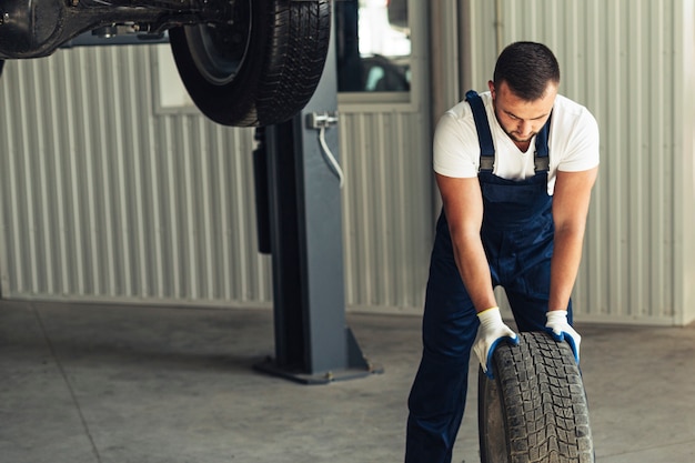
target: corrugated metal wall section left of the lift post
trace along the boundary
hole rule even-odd
[[[153,47],[104,47],[6,64],[3,298],[271,300],[253,131],[158,114],[155,58]]]

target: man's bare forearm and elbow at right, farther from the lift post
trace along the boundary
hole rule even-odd
[[[551,261],[548,310],[566,310],[582,260],[591,193],[598,168],[557,172],[553,195],[555,239]]]

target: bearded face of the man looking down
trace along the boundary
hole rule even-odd
[[[492,93],[495,115],[502,130],[517,145],[526,144],[527,148],[533,135],[543,128],[551,115],[557,95],[557,85],[548,82],[543,97],[534,101],[526,101],[516,97],[504,81],[497,89],[492,81],[487,82],[487,85]]]

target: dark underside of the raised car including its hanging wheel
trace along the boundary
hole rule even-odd
[[[87,31],[168,34],[207,117],[268,125],[313,94],[330,30],[330,0],[1,0],[0,60],[48,57]]]

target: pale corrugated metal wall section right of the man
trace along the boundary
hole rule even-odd
[[[678,208],[695,199],[682,198],[686,192],[676,181],[695,154],[681,142],[693,130],[683,125],[692,115],[682,115],[695,111],[692,100],[683,101],[693,81],[682,80],[684,53],[694,46],[692,29],[684,28],[693,24],[692,1],[472,0],[467,9],[465,82],[485,90],[500,46],[541,41],[561,63],[561,92],[598,120],[602,165],[575,289],[578,318],[693,320],[694,301],[682,298],[692,270],[676,265],[683,239],[677,215],[685,214],[687,223],[693,215],[692,207]]]

